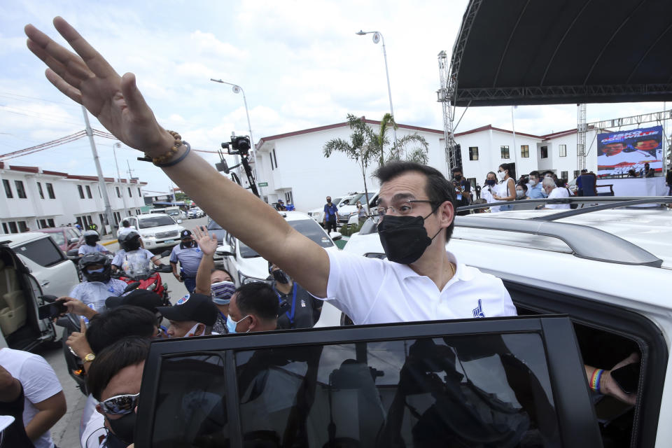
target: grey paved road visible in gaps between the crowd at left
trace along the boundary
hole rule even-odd
[[[185,220],[182,225],[189,230],[193,230],[197,225],[207,225],[207,218]],[[117,243],[108,244],[106,247],[113,252],[119,250],[119,245]],[[155,251],[157,254],[160,252],[161,250]],[[162,258],[162,262],[168,264],[168,258]],[[163,274],[162,281],[168,285],[169,295],[172,302],[176,302],[176,300],[187,293],[184,284],[177,281],[172,274]],[[62,328],[57,327],[57,330],[60,335]],[[58,379],[63,386],[65,399],[68,403],[68,412],[52,428],[52,438],[58,447],[77,448],[80,446],[79,423],[86,397],[78,388],[76,388],[75,381],[70,377],[62,349],[40,349],[36,351],[36,353],[44,356],[47,362],[55,370]]]

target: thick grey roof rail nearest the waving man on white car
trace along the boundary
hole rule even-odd
[[[554,237],[567,244],[575,256],[588,260],[650,267],[661,267],[663,264],[663,260],[640,246],[587,225],[482,216],[456,216],[455,225],[461,228],[503,230]],[[609,258],[605,258],[607,253]]]

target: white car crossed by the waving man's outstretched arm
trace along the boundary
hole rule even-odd
[[[339,239],[341,234],[327,232],[317,225],[307,214],[300,211],[280,211],[280,213],[289,225],[302,235],[315,241],[327,251],[338,251],[339,248],[334,244],[334,239]],[[214,223],[214,221],[211,221]],[[219,227],[217,225],[217,227]],[[219,240],[219,236],[218,236]],[[261,258],[253,248],[247,246],[226,230],[223,230],[223,241],[216,250],[216,255],[223,258],[223,266],[234,278],[236,286],[251,281],[266,281],[268,274],[268,262]]]

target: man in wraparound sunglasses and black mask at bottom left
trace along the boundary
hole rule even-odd
[[[102,448],[126,448],[134,442],[136,408],[149,339],[127,337],[98,353],[87,374],[87,386],[99,401],[107,435]]]

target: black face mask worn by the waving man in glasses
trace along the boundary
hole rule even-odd
[[[438,207],[437,207],[438,208]],[[427,236],[425,218],[436,211],[434,209],[425,216],[385,216],[378,224],[378,237],[387,259],[402,265],[410,265],[425,253],[432,244],[434,237]]]

